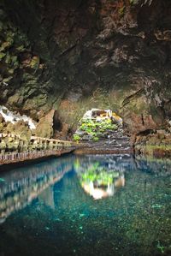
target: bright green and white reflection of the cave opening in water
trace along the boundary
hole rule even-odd
[[[95,157],[78,158],[74,170],[77,172],[81,187],[94,199],[113,196],[118,188],[126,183],[124,172],[130,164],[130,156],[113,156],[104,159]],[[133,160],[133,159],[132,159]],[[133,162],[133,161],[132,161]],[[120,164],[119,164],[120,163]]]

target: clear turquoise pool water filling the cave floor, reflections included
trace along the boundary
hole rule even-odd
[[[71,155],[0,172],[0,255],[171,255],[170,167]]]

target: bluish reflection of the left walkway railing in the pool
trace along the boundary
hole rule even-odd
[[[1,174],[0,180],[0,223],[13,212],[29,205],[39,196],[47,205],[54,205],[50,186],[59,182],[65,173],[72,170],[71,158],[50,160],[28,168]]]

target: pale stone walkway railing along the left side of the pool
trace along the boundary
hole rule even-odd
[[[10,138],[10,139],[9,139]],[[25,159],[42,158],[72,152],[78,145],[69,140],[56,140],[31,136],[22,138],[20,134],[0,134],[0,164]]]

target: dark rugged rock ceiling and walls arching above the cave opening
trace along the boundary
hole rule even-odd
[[[91,107],[133,133],[168,125],[170,0],[1,0],[0,31],[0,104],[68,130]]]

